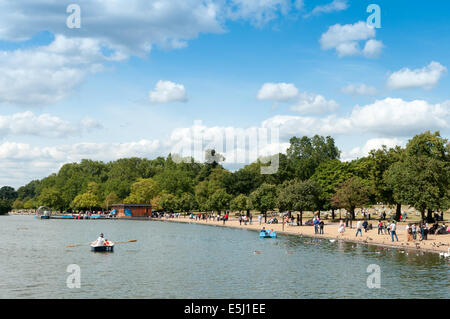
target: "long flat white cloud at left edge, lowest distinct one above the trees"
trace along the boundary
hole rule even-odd
[[[62,138],[80,135],[85,129],[99,128],[102,128],[101,124],[90,117],[85,117],[80,123],[74,123],[50,114],[35,115],[31,111],[0,115],[0,138],[9,135]]]

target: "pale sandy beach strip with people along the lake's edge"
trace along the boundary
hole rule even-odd
[[[356,223],[357,221],[353,221],[353,228],[346,227],[345,233],[338,233],[338,223],[327,223],[325,221],[324,226],[324,234],[319,235],[314,233],[313,226],[290,226],[285,224],[284,230],[282,224],[264,224],[264,218],[262,219],[261,225],[258,222],[258,218],[253,218],[253,224],[239,225],[239,221],[236,218],[232,218],[228,220],[225,225],[223,221],[213,221],[213,220],[198,220],[189,219],[189,217],[180,216],[179,218],[158,218],[158,220],[170,221],[170,222],[182,222],[182,223],[193,223],[193,224],[204,224],[204,225],[214,225],[214,226],[224,226],[224,227],[235,227],[235,228],[244,228],[244,229],[252,229],[259,231],[262,227],[266,227],[266,229],[273,229],[278,232],[278,234],[289,234],[289,235],[297,235],[297,236],[309,236],[309,237],[317,237],[317,238],[328,238],[328,239],[339,239],[350,242],[358,242],[365,243],[369,245],[377,245],[384,247],[395,247],[400,249],[409,249],[416,251],[426,251],[426,252],[448,252],[450,248],[450,235],[430,235],[428,234],[428,239],[424,241],[420,241],[420,235],[417,235],[418,239],[415,241],[407,241],[407,234],[405,227],[407,223],[398,223],[397,226],[397,236],[398,242],[392,242],[391,235],[388,234],[380,234],[378,235],[378,229],[376,227],[377,222],[372,221],[372,230],[368,230],[367,232],[362,232],[362,236],[356,234]],[[255,236],[257,236],[255,234]]]

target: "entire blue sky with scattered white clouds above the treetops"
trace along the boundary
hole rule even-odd
[[[380,28],[367,24],[371,3]],[[67,25],[71,4],[80,28]],[[447,1],[0,0],[0,186],[82,158],[165,156],[199,136],[234,167],[293,135],[331,135],[343,160],[425,130],[448,138],[449,12]],[[244,159],[233,152],[251,142],[221,139],[253,132],[271,139]]]

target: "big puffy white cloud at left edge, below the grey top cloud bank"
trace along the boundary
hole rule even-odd
[[[98,41],[60,35],[46,46],[0,51],[0,103],[33,107],[58,102],[111,58],[102,55]]]

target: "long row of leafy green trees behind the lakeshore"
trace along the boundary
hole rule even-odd
[[[231,172],[223,156],[207,151],[205,163],[193,159],[122,158],[111,162],[83,159],[58,173],[33,180],[17,190],[0,188],[0,214],[44,205],[67,209],[109,209],[116,203],[151,203],[164,211],[299,212],[355,209],[382,202],[410,205],[431,218],[450,207],[449,143],[439,132],[426,131],[406,147],[372,150],[353,161],[339,160],[330,136],[292,137],[280,153],[275,174],[261,174],[270,162],[257,160]],[[427,215],[426,215],[427,214]]]

